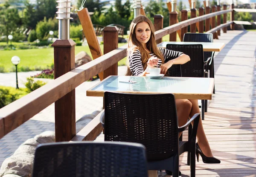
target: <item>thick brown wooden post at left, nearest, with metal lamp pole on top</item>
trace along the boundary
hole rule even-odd
[[[72,39],[57,40],[52,46],[54,47],[54,78],[56,79],[75,69],[76,43]],[[70,141],[75,135],[76,102],[74,89],[55,102],[55,142]]]

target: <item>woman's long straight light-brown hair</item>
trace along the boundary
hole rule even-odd
[[[136,34],[135,34],[136,25],[141,22],[147,22],[151,30],[150,38],[146,43],[147,49],[151,53],[154,53],[157,56],[157,58],[159,58],[162,61],[162,63],[164,63],[164,58],[163,58],[163,54],[160,52],[160,50],[157,47],[157,43],[154,36],[153,23],[151,22],[151,20],[148,19],[148,17],[145,17],[143,15],[138,15],[137,17],[134,18],[134,20],[132,20],[129,28],[130,34],[128,38],[127,55],[131,55],[137,49],[140,50],[142,65],[145,70],[147,67],[148,58],[150,58],[151,55],[149,55],[149,53],[144,49],[143,45],[136,38]],[[129,67],[129,59],[126,61],[126,64],[128,66],[126,75],[132,75],[131,69]]]

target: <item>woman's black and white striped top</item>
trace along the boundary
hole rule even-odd
[[[160,47],[160,52],[163,54],[164,60],[170,57],[178,57],[183,52],[177,52],[174,50],[169,50],[166,48]],[[151,56],[157,57],[154,53],[150,53]],[[131,69],[131,73],[134,76],[138,76],[144,72],[142,61],[141,61],[141,53],[139,49],[136,49],[133,53],[131,53],[129,56],[129,67]],[[160,65],[163,64],[161,60],[158,61],[157,67],[160,67]]]

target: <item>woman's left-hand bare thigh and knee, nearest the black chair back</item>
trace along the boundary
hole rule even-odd
[[[191,113],[192,103],[187,99],[175,99],[179,127],[186,124]],[[179,136],[182,132],[179,133]]]

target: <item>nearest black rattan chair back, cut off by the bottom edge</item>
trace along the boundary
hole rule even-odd
[[[128,142],[38,146],[32,177],[147,177],[145,147]]]

